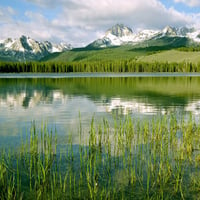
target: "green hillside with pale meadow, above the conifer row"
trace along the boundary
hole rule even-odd
[[[172,51],[181,48],[184,52]],[[186,51],[189,49],[189,52]],[[75,48],[63,53],[53,53],[42,58],[42,62],[115,62],[117,61],[144,61],[144,62],[176,62],[191,61],[197,62],[200,50],[196,44],[186,37],[160,36],[148,41],[140,42],[137,45],[126,44],[122,46],[97,48],[88,45],[85,48]],[[166,51],[166,52],[165,52]],[[169,51],[169,52],[168,52]],[[180,57],[180,59],[179,59]],[[177,59],[178,58],[178,59]],[[17,62],[15,56],[0,56],[0,61]],[[28,62],[28,60],[27,60]]]

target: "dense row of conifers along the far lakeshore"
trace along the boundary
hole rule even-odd
[[[136,60],[88,62],[0,62],[0,73],[70,72],[200,72],[200,62],[138,62]]]

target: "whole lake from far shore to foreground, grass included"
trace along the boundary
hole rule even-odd
[[[1,74],[0,198],[200,199],[199,86],[199,74]]]

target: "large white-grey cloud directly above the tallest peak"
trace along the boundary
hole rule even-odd
[[[69,3],[69,2],[68,2]],[[186,16],[173,9],[167,10],[157,0],[73,0],[72,6],[63,6],[63,13],[57,19],[69,26],[83,26],[88,29],[105,28],[122,22],[131,26],[163,27],[188,23]]]

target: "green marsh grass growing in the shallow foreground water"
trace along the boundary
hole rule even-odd
[[[32,124],[20,151],[1,150],[0,199],[199,199],[200,125],[192,116],[79,126],[65,148]]]

